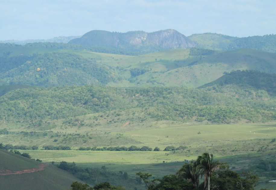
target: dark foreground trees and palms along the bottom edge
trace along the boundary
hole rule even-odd
[[[63,168],[64,164],[67,163],[61,162],[59,168],[70,171],[71,173],[74,173],[74,170],[78,170],[74,165],[71,165],[72,167],[70,169],[68,167]],[[198,156],[195,161],[186,162],[176,174],[163,176],[162,179],[152,179],[151,174],[143,172],[138,172],[136,175],[140,178],[138,180],[138,187],[141,188],[141,184],[144,183],[145,188],[150,190],[254,190],[259,179],[257,175],[253,175],[251,172],[244,172],[243,176],[240,176],[238,173],[230,170],[227,164],[214,161],[213,155],[207,152]],[[200,183],[200,177],[203,176],[204,181]],[[109,182],[101,182],[93,188],[87,184],[74,182],[71,184],[71,187],[73,190],[124,189],[122,186],[113,186]],[[138,188],[135,187],[135,189]]]

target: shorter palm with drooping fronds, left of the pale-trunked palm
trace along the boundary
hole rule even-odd
[[[176,172],[178,178],[184,178],[193,184],[193,189],[197,188],[199,182],[199,173],[195,162],[185,163],[182,168]]]

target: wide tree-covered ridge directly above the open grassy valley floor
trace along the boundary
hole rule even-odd
[[[226,87],[224,92],[219,90],[219,86],[213,87],[214,91],[180,87],[96,86],[18,89],[0,97],[0,120],[34,122],[113,110],[127,114],[130,108],[142,110],[140,120],[211,123],[275,120],[276,101],[266,91],[235,85]]]

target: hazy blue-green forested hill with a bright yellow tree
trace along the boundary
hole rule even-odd
[[[12,59],[12,57],[6,59]],[[5,63],[11,61],[5,60]],[[21,59],[16,61],[11,63],[14,65],[13,70],[7,68],[1,72],[0,85],[25,84],[44,87],[104,85],[116,80],[113,68],[76,54],[33,54],[27,57],[27,61]]]

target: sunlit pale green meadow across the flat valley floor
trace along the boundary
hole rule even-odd
[[[224,156],[242,155],[247,152],[262,153],[275,148],[270,143],[276,137],[276,124],[235,124],[235,125],[184,125],[170,124],[133,129],[132,126],[116,127],[116,132],[131,139],[127,144],[118,146],[159,147],[160,151],[80,151],[79,147],[72,150],[24,150],[33,158],[43,162],[76,162],[89,163],[116,163],[116,164],[155,164],[167,162],[183,162],[196,159],[202,152],[211,152],[216,158]],[[135,127],[134,127],[135,128]],[[58,130],[58,129],[56,129]],[[71,129],[59,129],[70,132]],[[109,130],[107,130],[109,131]],[[85,129],[81,129],[85,133]],[[3,137],[2,137],[3,138]],[[48,141],[52,139],[48,139]],[[134,143],[135,142],[135,143]],[[11,142],[11,144],[13,144]],[[15,145],[15,144],[14,144]],[[93,147],[93,144],[84,143],[82,146]],[[113,146],[112,144],[110,146]],[[182,150],[163,151],[167,146],[184,146]],[[98,146],[100,147],[100,146]]]

